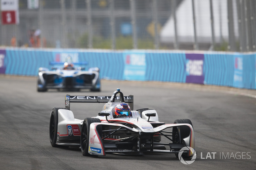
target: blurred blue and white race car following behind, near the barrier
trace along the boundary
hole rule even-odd
[[[100,92],[100,69],[75,65],[86,65],[86,62],[73,63],[71,57],[67,57],[64,63],[51,62],[50,65],[63,67],[52,67],[51,69],[40,67],[37,74],[37,91],[45,92],[48,89],[76,90],[90,89]]]

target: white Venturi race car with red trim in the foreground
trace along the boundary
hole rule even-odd
[[[75,119],[71,102],[106,103],[96,117]],[[115,108],[126,103],[129,115],[115,118]],[[65,96],[65,108],[54,107],[50,116],[50,142],[53,147],[81,147],[84,156],[106,153],[178,153],[192,157],[195,137],[189,119],[178,119],[173,124],[158,121],[156,110],[143,108],[133,111],[133,95],[124,96],[117,89],[112,96]]]

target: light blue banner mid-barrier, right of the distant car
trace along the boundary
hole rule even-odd
[[[124,51],[124,80],[145,80],[146,54],[144,51]]]

